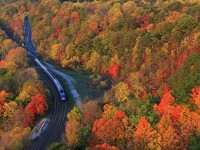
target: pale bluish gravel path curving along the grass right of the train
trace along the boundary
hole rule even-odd
[[[76,106],[77,107],[80,107],[81,106],[81,101],[80,101],[80,96],[78,94],[78,92],[76,91],[75,87],[74,87],[74,84],[76,84],[76,81],[74,78],[66,75],[65,73],[61,72],[61,71],[58,71],[56,69],[53,68],[52,65],[44,62],[46,67],[49,68],[52,72],[54,72],[55,74],[61,76],[63,79],[65,79],[68,83],[68,86],[69,86],[69,89],[71,91],[71,94],[73,96],[73,98],[75,99],[76,101]]]

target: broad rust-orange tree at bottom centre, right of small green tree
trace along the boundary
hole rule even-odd
[[[117,110],[111,119],[104,117],[94,122],[89,143],[93,147],[108,142],[123,149],[131,136],[128,117],[125,112]]]

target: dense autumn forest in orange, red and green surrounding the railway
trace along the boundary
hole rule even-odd
[[[12,0],[0,21],[104,94],[66,114],[60,150],[200,149],[199,0]],[[23,149],[50,93],[0,28],[0,150]],[[53,146],[52,146],[53,147]],[[53,148],[49,148],[53,150]]]

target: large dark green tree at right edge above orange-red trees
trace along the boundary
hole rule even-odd
[[[167,79],[176,103],[188,103],[190,91],[200,85],[200,54],[188,56],[183,67]]]

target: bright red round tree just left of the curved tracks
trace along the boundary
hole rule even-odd
[[[46,97],[43,94],[37,94],[31,98],[31,102],[26,106],[26,111],[31,115],[44,114],[47,110]]]

